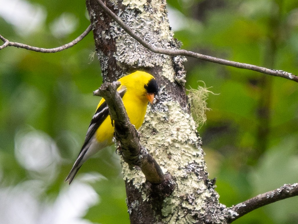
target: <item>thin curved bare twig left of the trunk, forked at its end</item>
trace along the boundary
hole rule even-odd
[[[32,47],[32,46],[26,45],[26,44],[21,44],[21,43],[17,43],[17,42],[10,42],[9,40],[5,39],[3,36],[0,35],[0,39],[4,42],[4,44],[0,46],[0,50],[3,49],[4,47],[13,46],[13,47],[20,47],[20,48],[24,48],[24,49],[27,49],[27,50],[33,50],[33,51],[36,51],[36,52],[41,52],[41,53],[55,53],[55,52],[65,50],[69,47],[72,47],[75,44],[77,44],[78,42],[80,42],[91,31],[91,28],[92,28],[92,26],[89,25],[87,27],[87,29],[80,36],[78,36],[76,39],[74,39],[72,42],[69,42],[68,44],[62,45],[60,47],[55,47],[55,48]]]

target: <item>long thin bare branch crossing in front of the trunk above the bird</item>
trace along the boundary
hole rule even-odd
[[[100,5],[100,7],[103,9],[103,11],[105,13],[107,13],[109,16],[111,16],[118,24],[120,27],[123,28],[123,30],[125,30],[126,33],[128,33],[131,37],[133,37],[137,42],[139,42],[141,45],[143,45],[144,47],[146,47],[148,50],[157,53],[157,54],[165,54],[165,55],[169,55],[169,56],[188,56],[188,57],[192,57],[192,58],[197,58],[197,59],[201,59],[204,61],[208,61],[208,62],[213,62],[213,63],[217,63],[217,64],[221,64],[221,65],[227,65],[227,66],[232,66],[232,67],[237,67],[237,68],[244,68],[244,69],[249,69],[249,70],[253,70],[253,71],[257,71],[260,73],[264,73],[264,74],[268,74],[271,76],[279,76],[279,77],[283,77],[285,79],[289,79],[289,80],[293,80],[295,82],[298,82],[298,76],[293,75],[292,73],[288,73],[285,72],[283,70],[273,70],[273,69],[268,69],[265,67],[259,67],[256,65],[250,65],[250,64],[246,64],[246,63],[240,63],[240,62],[234,62],[234,61],[229,61],[229,60],[225,60],[225,59],[220,59],[220,58],[216,58],[216,57],[212,57],[212,56],[207,56],[204,54],[199,54],[199,53],[195,53],[192,51],[188,51],[188,50],[170,50],[170,49],[163,49],[160,47],[154,47],[152,45],[150,45],[148,42],[146,42],[141,36],[139,36],[138,34],[136,34],[130,27],[128,27],[128,25],[126,25],[115,13],[113,13],[101,0],[96,0],[97,3]],[[142,32],[141,30],[139,32]]]

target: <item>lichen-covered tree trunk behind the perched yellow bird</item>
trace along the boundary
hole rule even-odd
[[[225,223],[214,184],[208,179],[201,139],[190,115],[184,89],[184,58],[150,52],[102,12],[95,0],[86,0],[95,46],[105,81],[115,81],[135,70],[156,77],[156,103],[140,129],[142,145],[164,173],[175,181],[172,194],[155,197],[155,187],[141,171],[122,162],[131,223]],[[106,1],[126,24],[152,45],[179,48],[167,19],[166,1]]]

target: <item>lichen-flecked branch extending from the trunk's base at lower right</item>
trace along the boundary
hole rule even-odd
[[[229,223],[234,220],[242,217],[243,215],[260,208],[264,205],[271,204],[273,202],[283,200],[289,197],[294,197],[298,195],[298,183],[294,184],[285,184],[280,188],[277,188],[273,191],[268,191],[264,194],[259,194],[256,197],[253,197],[245,202],[241,202],[237,205],[234,205],[230,208],[227,208],[230,219]]]

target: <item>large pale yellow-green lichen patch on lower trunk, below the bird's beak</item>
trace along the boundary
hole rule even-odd
[[[164,200],[162,214],[164,216],[171,214],[169,217],[173,218],[174,216],[174,219],[179,220],[181,210],[176,209],[179,207],[182,198],[195,194],[193,205],[184,202],[184,212],[187,212],[188,208],[201,213],[201,202],[206,200],[209,195],[204,181],[199,180],[194,172],[187,171],[187,166],[194,163],[204,169],[204,153],[195,144],[199,139],[195,133],[195,122],[191,116],[181,111],[178,102],[162,102],[162,104],[168,108],[166,112],[150,112],[146,116],[141,129],[142,144],[148,145],[150,153],[159,165],[177,177],[179,187]],[[153,128],[162,134],[150,135]],[[163,150],[160,150],[161,148]],[[177,200],[179,198],[180,200]],[[193,218],[189,217],[189,219]],[[193,219],[193,221],[195,220]],[[170,223],[171,220],[165,219],[164,222]]]

